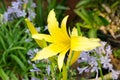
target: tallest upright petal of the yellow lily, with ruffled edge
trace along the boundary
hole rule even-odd
[[[67,20],[67,17],[63,20],[63,23],[62,23],[63,27],[65,27],[66,20]],[[65,42],[69,39],[68,35],[64,34],[65,30],[62,31],[62,29],[59,28],[59,24],[58,24],[58,21],[56,19],[54,10],[50,11],[47,21],[48,21],[49,33],[50,33],[50,35],[53,38],[53,41],[55,43],[60,44],[61,42]]]

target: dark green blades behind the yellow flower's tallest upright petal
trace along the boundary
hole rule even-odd
[[[66,0],[61,0],[59,3],[57,0],[36,0],[36,18],[35,18],[35,23],[36,26],[41,27],[41,32],[43,32],[46,24],[47,24],[47,15],[48,12],[51,9],[55,9],[57,13],[57,19],[58,21],[62,19],[63,13],[65,10],[68,10],[69,8],[65,6]]]

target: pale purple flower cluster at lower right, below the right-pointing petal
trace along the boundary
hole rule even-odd
[[[87,66],[77,67],[79,74],[83,72],[96,72],[96,80],[98,79],[98,71],[101,68],[99,66],[102,65],[102,68],[108,69],[109,72],[112,73],[112,78],[117,79],[120,71],[115,71],[113,69],[113,65],[110,63],[110,55],[112,54],[112,50],[110,45],[106,42],[101,42],[102,46],[88,52],[82,52],[80,58],[78,59],[78,63],[86,62]]]

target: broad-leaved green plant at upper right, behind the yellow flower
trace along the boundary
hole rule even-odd
[[[78,22],[77,24],[79,27],[89,29],[89,37],[97,37],[97,30],[101,26],[109,24],[107,19],[101,16],[100,3],[102,4],[102,0],[81,0],[74,10],[80,19],[82,19],[82,22]]]

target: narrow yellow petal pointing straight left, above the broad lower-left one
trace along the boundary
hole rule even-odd
[[[37,40],[43,40],[44,39],[45,41],[52,42],[51,36],[47,35],[47,34],[33,34],[32,38],[37,39]]]

